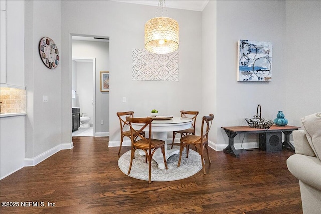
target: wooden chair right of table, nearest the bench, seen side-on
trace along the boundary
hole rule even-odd
[[[184,147],[186,146],[186,158],[188,158],[189,155],[189,145],[194,145],[197,148],[198,153],[201,155],[201,162],[202,162],[202,168],[203,168],[203,174],[206,174],[205,167],[204,167],[204,148],[206,149],[207,157],[209,159],[209,163],[212,164],[209,151],[208,151],[208,133],[210,131],[210,128],[212,126],[212,122],[214,119],[214,115],[210,114],[209,116],[204,116],[202,118],[202,127],[201,127],[201,135],[186,135],[181,138],[180,142],[180,157],[179,162],[177,166],[180,166],[181,158],[182,158],[182,152],[184,150]]]

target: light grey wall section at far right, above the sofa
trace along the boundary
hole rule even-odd
[[[321,112],[321,1],[286,2],[286,108],[289,123]]]

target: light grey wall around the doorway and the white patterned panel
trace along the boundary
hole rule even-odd
[[[62,60],[66,62],[63,70],[71,73],[71,65],[67,64],[71,59],[70,34],[110,37],[110,141],[120,140],[118,111],[133,110],[135,116],[147,116],[154,108],[173,115],[179,115],[182,109],[201,109],[201,12],[168,8],[169,16],[180,25],[179,81],[133,81],[132,48],[144,48],[144,25],[155,16],[157,7],[112,1],[63,1],[61,4],[65,54]],[[64,79],[70,78],[64,75]],[[65,82],[63,88],[70,90],[71,80]],[[122,97],[126,97],[127,102],[122,102]],[[71,108],[69,102],[63,109]],[[71,124],[71,120],[63,120]],[[71,130],[66,135],[71,135]]]

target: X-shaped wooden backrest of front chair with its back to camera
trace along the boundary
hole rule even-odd
[[[149,143],[149,149],[151,149],[151,122],[153,121],[152,118],[149,117],[126,117],[126,120],[128,121],[128,125],[130,127],[131,131],[131,142],[135,142],[138,137],[140,137],[143,141]],[[136,130],[132,127],[133,123],[137,124],[144,124],[139,130]],[[149,126],[149,138],[145,138],[141,133],[144,131],[144,129]]]

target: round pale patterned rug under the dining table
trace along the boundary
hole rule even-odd
[[[174,146],[175,147],[175,146]],[[176,146],[175,148],[179,148]],[[135,152],[130,174],[128,176],[148,180],[148,163],[145,163],[145,156],[138,154],[139,149]],[[127,175],[130,165],[131,151],[127,151],[118,160],[120,170]],[[186,152],[183,151],[180,167],[177,167],[179,154],[175,154],[167,159],[168,169],[159,169],[156,161],[151,162],[151,181],[173,181],[190,177],[202,169],[201,156],[199,153],[190,149],[189,157],[186,158]]]

